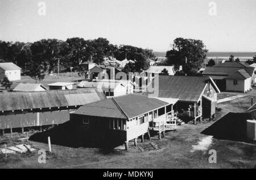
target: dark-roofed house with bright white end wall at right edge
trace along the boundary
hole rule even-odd
[[[221,91],[247,92],[255,85],[255,68],[242,62],[224,62],[206,67],[203,76],[210,76]]]

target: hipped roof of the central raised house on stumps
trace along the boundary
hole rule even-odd
[[[138,94],[127,94],[85,104],[75,114],[106,118],[131,119],[169,103]]]

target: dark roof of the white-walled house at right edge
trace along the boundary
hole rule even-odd
[[[229,76],[230,74],[235,73],[240,69],[245,69],[245,71],[250,76],[253,76],[255,70],[255,68],[248,64],[243,64],[242,62],[224,62],[212,67],[206,67],[202,74],[205,76]]]

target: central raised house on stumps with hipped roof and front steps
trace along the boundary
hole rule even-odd
[[[138,94],[127,94],[112,97],[102,101],[85,104],[71,114],[73,124],[82,126],[89,131],[90,139],[97,144],[125,144],[145,133],[150,136],[151,131],[164,135],[166,128],[176,128],[176,124],[167,124],[173,121],[173,105],[177,99],[168,101],[158,98],[148,98]],[[176,121],[175,121],[176,122]]]

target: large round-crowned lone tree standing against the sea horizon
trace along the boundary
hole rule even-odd
[[[178,37],[174,40],[172,49],[166,52],[166,64],[175,65],[176,70],[182,65],[183,72],[191,74],[201,68],[207,57],[207,52],[208,49],[206,49],[203,41]]]

